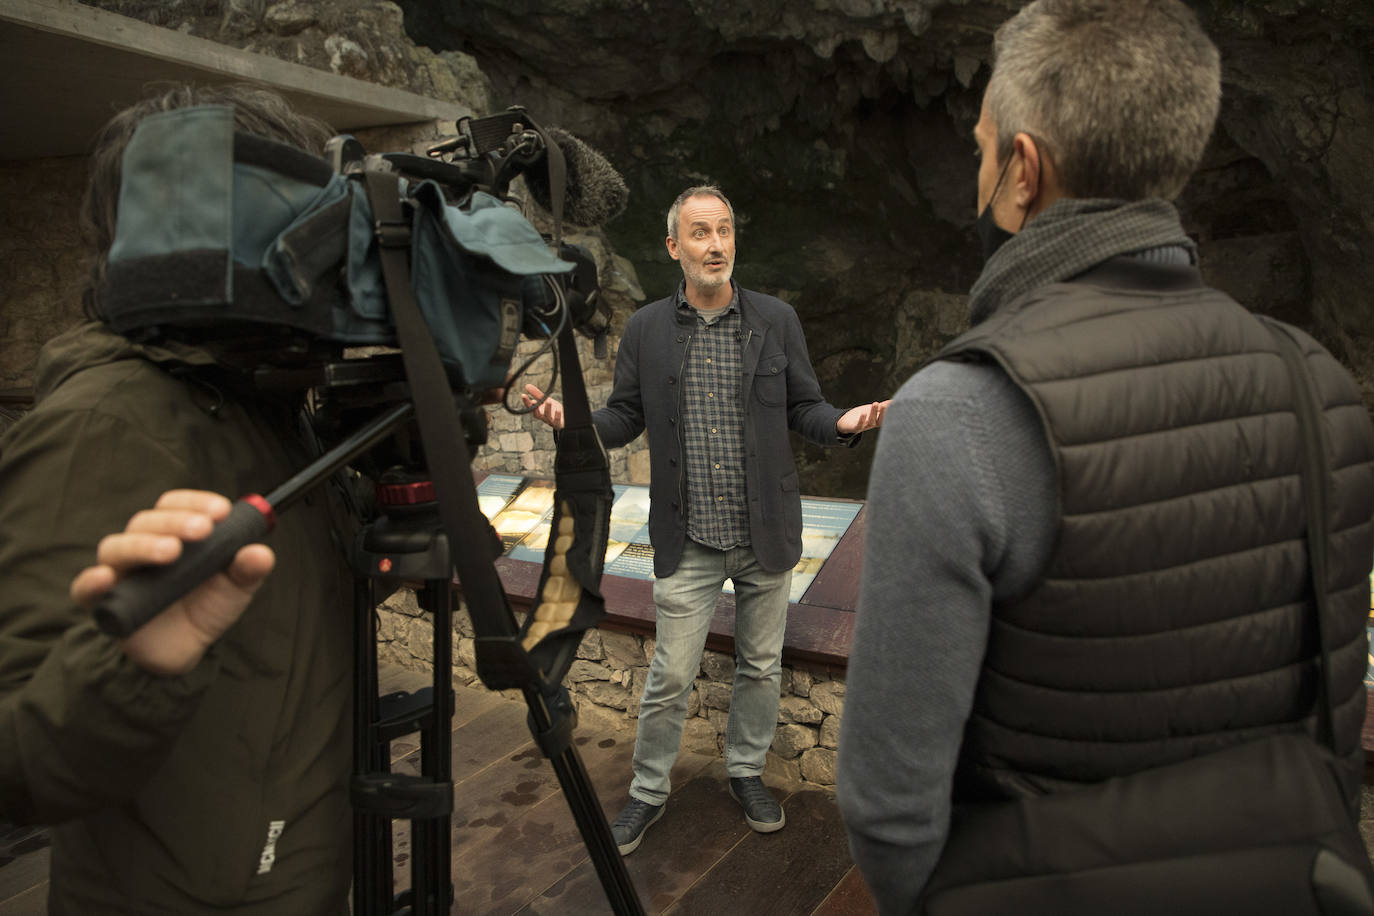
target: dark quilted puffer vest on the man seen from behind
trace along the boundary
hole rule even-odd
[[[1333,724],[1358,780],[1374,428],[1351,376],[1300,339],[1331,475]],[[1268,330],[1191,268],[1117,258],[1022,295],[940,357],[1000,365],[1058,472],[1048,566],[993,607],[956,801],[1314,733],[1298,426]]]

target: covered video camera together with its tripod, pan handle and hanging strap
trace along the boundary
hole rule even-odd
[[[364,466],[378,485],[379,514],[353,547],[356,912],[449,909],[456,569],[477,634],[478,676],[493,689],[522,691],[530,729],[554,764],[613,909],[638,913],[573,747],[576,717],[561,684],[583,632],[605,617],[599,582],[613,499],[573,339],[576,330],[603,342],[609,309],[591,255],[562,242],[562,220],[566,206],[570,221],[600,222],[621,209],[627,191],[599,154],[544,130],[523,108],[456,126],[456,136],[423,154],[368,155],[356,139],[335,137],[326,161],[235,133],[224,106],[139,124],[122,163],[109,324],[133,339],[205,343],[250,369],[264,389],[312,391],[333,446],[276,490],[239,500],[172,566],[121,580],[95,617],[109,633],[132,632],[260,540],[275,514],[346,466],[385,452],[385,461]],[[511,206],[518,176],[551,213],[551,239]],[[517,623],[493,566],[499,538],[478,509],[469,464],[470,446],[485,442],[485,393],[513,387],[532,361],[510,369],[522,335],[547,339],[555,372],[559,360],[566,368],[554,536],[537,608]],[[376,347],[386,352],[371,352]],[[370,420],[348,430],[368,412]],[[418,437],[408,435],[412,426]],[[420,606],[433,615],[434,683],[379,698],[374,608],[379,595],[405,581],[423,582]],[[420,773],[392,773],[390,740],[414,731]],[[412,821],[412,886],[393,900],[397,817]]]

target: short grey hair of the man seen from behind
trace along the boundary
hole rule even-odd
[[[1036,0],[998,29],[985,96],[1076,198],[1173,199],[1221,104],[1221,59],[1180,0]]]

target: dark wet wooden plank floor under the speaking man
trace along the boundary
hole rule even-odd
[[[383,689],[426,676],[392,667]],[[459,688],[453,717],[453,913],[552,916],[610,913],[596,872],[548,761],[525,725],[525,705]],[[584,720],[578,755],[607,818],[625,802],[633,729]],[[414,769],[416,746],[393,743],[394,769]],[[834,795],[779,786],[787,825],[754,834],[725,791],[717,757],[683,753],[664,817],[625,858],[649,913],[671,916],[868,916],[875,913],[849,861]],[[393,842],[398,889],[409,883],[404,825]],[[47,898],[45,838],[0,827],[0,916],[38,916]]]

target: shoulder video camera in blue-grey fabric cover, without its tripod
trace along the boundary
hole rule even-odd
[[[566,243],[551,250],[510,206],[508,190],[525,176],[555,222],[566,190],[569,220],[594,225],[622,207],[620,176],[522,108],[464,118],[458,130],[427,155],[370,157],[339,136],[327,162],[235,133],[232,111],[218,106],[146,118],[124,158],[110,325],[132,338],[213,335],[272,368],[312,368],[341,358],[344,347],[394,346],[382,251],[400,246],[456,390],[502,386],[521,334],[547,338],[570,321],[605,335],[609,310],[591,255]],[[393,176],[409,211],[385,236],[374,231],[370,173]],[[269,380],[313,386],[333,378]]]

